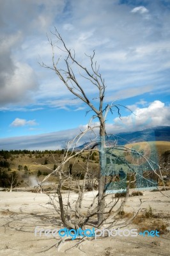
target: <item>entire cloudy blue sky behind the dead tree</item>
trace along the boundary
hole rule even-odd
[[[54,27],[89,70],[95,50],[104,106],[114,101],[134,112],[120,107],[120,120],[114,108],[108,133],[170,125],[169,0],[0,0],[0,24],[0,149],[63,148],[94,115],[40,65],[52,65],[48,36],[64,67]],[[95,86],[75,74],[97,106]]]

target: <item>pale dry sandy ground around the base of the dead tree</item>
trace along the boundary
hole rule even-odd
[[[169,191],[167,191],[167,194],[170,195]],[[76,196],[72,192],[72,198]],[[93,193],[86,193],[85,198],[87,203],[91,202]],[[151,207],[153,215],[155,214],[157,218],[152,218],[152,216],[143,219],[141,215],[141,219],[139,218],[138,221],[130,224],[127,228],[141,228],[143,225],[150,225],[150,222],[154,223],[156,227],[161,223],[166,228],[163,228],[164,234],[160,234],[160,237],[116,236],[98,238],[92,241],[86,240],[79,244],[77,248],[67,250],[77,243],[71,241],[64,243],[59,251],[54,246],[50,250],[42,252],[58,242],[56,238],[35,237],[34,234],[36,226],[54,228],[52,223],[54,224],[54,221],[57,220],[54,210],[48,204],[48,196],[30,192],[0,192],[0,255],[170,255],[169,197],[162,195],[160,192],[144,191],[144,195],[140,198],[143,202],[141,211],[146,212]],[[136,210],[139,205],[139,196],[128,198],[124,209],[125,215]]]

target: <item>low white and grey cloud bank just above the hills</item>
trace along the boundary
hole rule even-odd
[[[145,104],[145,102],[141,103]],[[121,120],[118,117],[114,118],[112,124],[106,124],[107,133],[117,134],[127,131],[139,131],[140,129],[156,127],[159,125],[170,125],[170,106],[166,107],[165,104],[159,100],[151,102],[147,108],[136,108],[134,113],[135,115],[130,114],[128,116],[121,116]],[[15,120],[17,125],[25,125],[27,122],[28,124],[31,124],[31,122],[35,122],[35,120]],[[68,129],[65,131],[0,139],[0,149],[56,150],[65,148],[66,142],[72,140],[86,127],[87,125],[81,125],[75,129]],[[96,132],[98,132],[97,129]],[[89,136],[91,136],[91,134],[89,134]],[[93,136],[91,138],[93,138]],[[89,141],[88,136],[81,140],[79,145],[87,141]]]

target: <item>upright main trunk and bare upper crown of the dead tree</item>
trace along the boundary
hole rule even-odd
[[[100,140],[98,145],[100,147],[100,174],[98,177],[98,207],[100,211],[98,212],[98,224],[104,220],[104,209],[105,209],[105,117],[107,116],[108,111],[112,111],[112,108],[118,110],[118,115],[120,116],[120,105],[111,105],[104,106],[104,97],[105,97],[105,81],[100,74],[99,66],[95,61],[95,51],[93,51],[92,56],[87,56],[89,59],[89,68],[84,67],[75,57],[75,52],[69,49],[61,35],[59,35],[57,29],[55,28],[54,33],[52,33],[58,40],[57,47],[65,54],[65,58],[62,60],[61,57],[56,58],[54,43],[48,37],[49,44],[52,47],[52,67],[46,65],[45,63],[40,63],[45,68],[49,68],[56,72],[56,75],[63,82],[63,85],[75,95],[78,99],[81,99],[82,102],[85,102],[90,110],[93,111],[93,118],[98,118],[99,120],[99,134]],[[60,46],[61,44],[61,46]],[[59,65],[61,63],[61,66]],[[90,83],[94,88],[97,89],[97,96],[95,99],[90,100],[87,93],[85,92],[81,83],[79,83],[79,76],[77,77],[77,69],[79,70],[79,75],[86,81]],[[94,104],[94,100],[98,100],[97,106]]]

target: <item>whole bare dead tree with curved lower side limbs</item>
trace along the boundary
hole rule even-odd
[[[92,127],[93,125],[91,125],[91,121],[90,121],[86,131],[79,134],[76,140],[79,141],[80,138],[82,138],[82,136],[84,136],[84,134],[86,134],[87,131],[95,132],[95,129],[97,128],[99,130],[99,140],[96,141],[97,142],[96,145],[98,145],[98,148],[99,148],[99,159],[100,159],[100,172],[98,175],[98,195],[97,195],[98,205],[97,205],[97,208],[91,210],[92,212],[88,215],[88,217],[86,216],[86,218],[89,218],[89,216],[93,216],[94,214],[97,214],[98,227],[100,227],[100,225],[104,223],[105,216],[108,214],[108,212],[107,214],[105,212],[105,197],[106,197],[105,185],[108,182],[108,180],[106,179],[107,175],[105,173],[105,167],[106,167],[105,122],[106,122],[107,114],[109,113],[109,111],[111,111],[112,113],[112,109],[114,108],[116,109],[116,111],[118,111],[118,116],[120,116],[121,118],[121,114],[120,114],[121,105],[120,104],[116,105],[114,104],[114,102],[112,102],[110,105],[104,104],[106,86],[105,86],[104,78],[102,77],[102,74],[100,74],[97,61],[95,61],[95,51],[93,51],[93,55],[91,56],[86,55],[89,61],[89,67],[87,68],[86,66],[82,65],[80,61],[77,60],[77,57],[75,56],[75,51],[72,51],[66,46],[65,41],[63,40],[61,35],[58,33],[56,28],[54,29],[54,33],[52,33],[52,36],[55,36],[55,38],[57,39],[56,47],[58,47],[59,51],[61,51],[61,54],[64,55],[64,58],[62,58],[61,56],[59,57],[56,56],[55,44],[47,36],[49,40],[49,44],[52,48],[52,66],[46,65],[43,62],[40,63],[40,65],[42,65],[42,67],[53,70],[56,73],[57,77],[63,83],[63,86],[66,86],[66,88],[70,91],[70,93],[75,95],[77,99],[82,100],[82,102],[85,102],[89,106],[89,111],[93,111],[93,116],[91,117],[91,121],[94,120],[95,118],[98,118],[98,121],[99,121],[98,126],[95,126],[95,127]],[[97,89],[97,94],[95,99],[89,99],[88,93],[86,93],[86,91],[84,90],[83,84],[79,82],[79,77],[84,79],[84,81],[86,81],[86,84],[89,83],[90,85],[94,86],[94,89]],[[68,145],[68,148],[67,148],[68,150],[69,150],[69,147],[70,146]],[[87,148],[83,149],[82,152],[86,149]],[[123,149],[123,147],[117,148],[117,149],[130,151],[129,148]],[[61,163],[60,166],[58,166],[58,168],[56,168],[56,170],[54,170],[54,172],[58,173],[58,178],[59,178],[59,186],[58,186],[57,192],[58,192],[59,205],[60,205],[60,211],[61,211],[61,219],[66,226],[70,228],[75,228],[75,225],[73,223],[71,225],[70,221],[68,221],[69,218],[67,219],[65,216],[64,205],[63,205],[63,200],[61,196],[61,188],[63,186],[63,177],[65,176],[65,172],[64,172],[65,164],[68,163],[69,159],[80,154],[80,152],[75,153],[74,156],[73,155],[70,156],[68,155],[68,150],[66,151],[63,162]],[[139,154],[139,153],[136,152],[136,154]],[[116,158],[114,157],[114,159]],[[147,161],[149,161],[149,159],[147,159]],[[128,164],[127,161],[125,161],[125,163]],[[129,168],[131,168],[130,165],[129,165]],[[69,179],[71,182],[72,175],[68,175],[66,179]],[[81,196],[82,195],[83,193],[81,191]],[[82,200],[82,198],[80,200]],[[79,204],[80,202],[77,203],[77,205]],[[111,211],[111,209],[109,209],[109,212]],[[79,213],[79,207],[76,206],[75,211],[77,214],[76,216],[79,216],[79,218],[85,218],[84,216],[81,216],[81,214]],[[84,221],[82,221],[82,223],[84,223]]]

